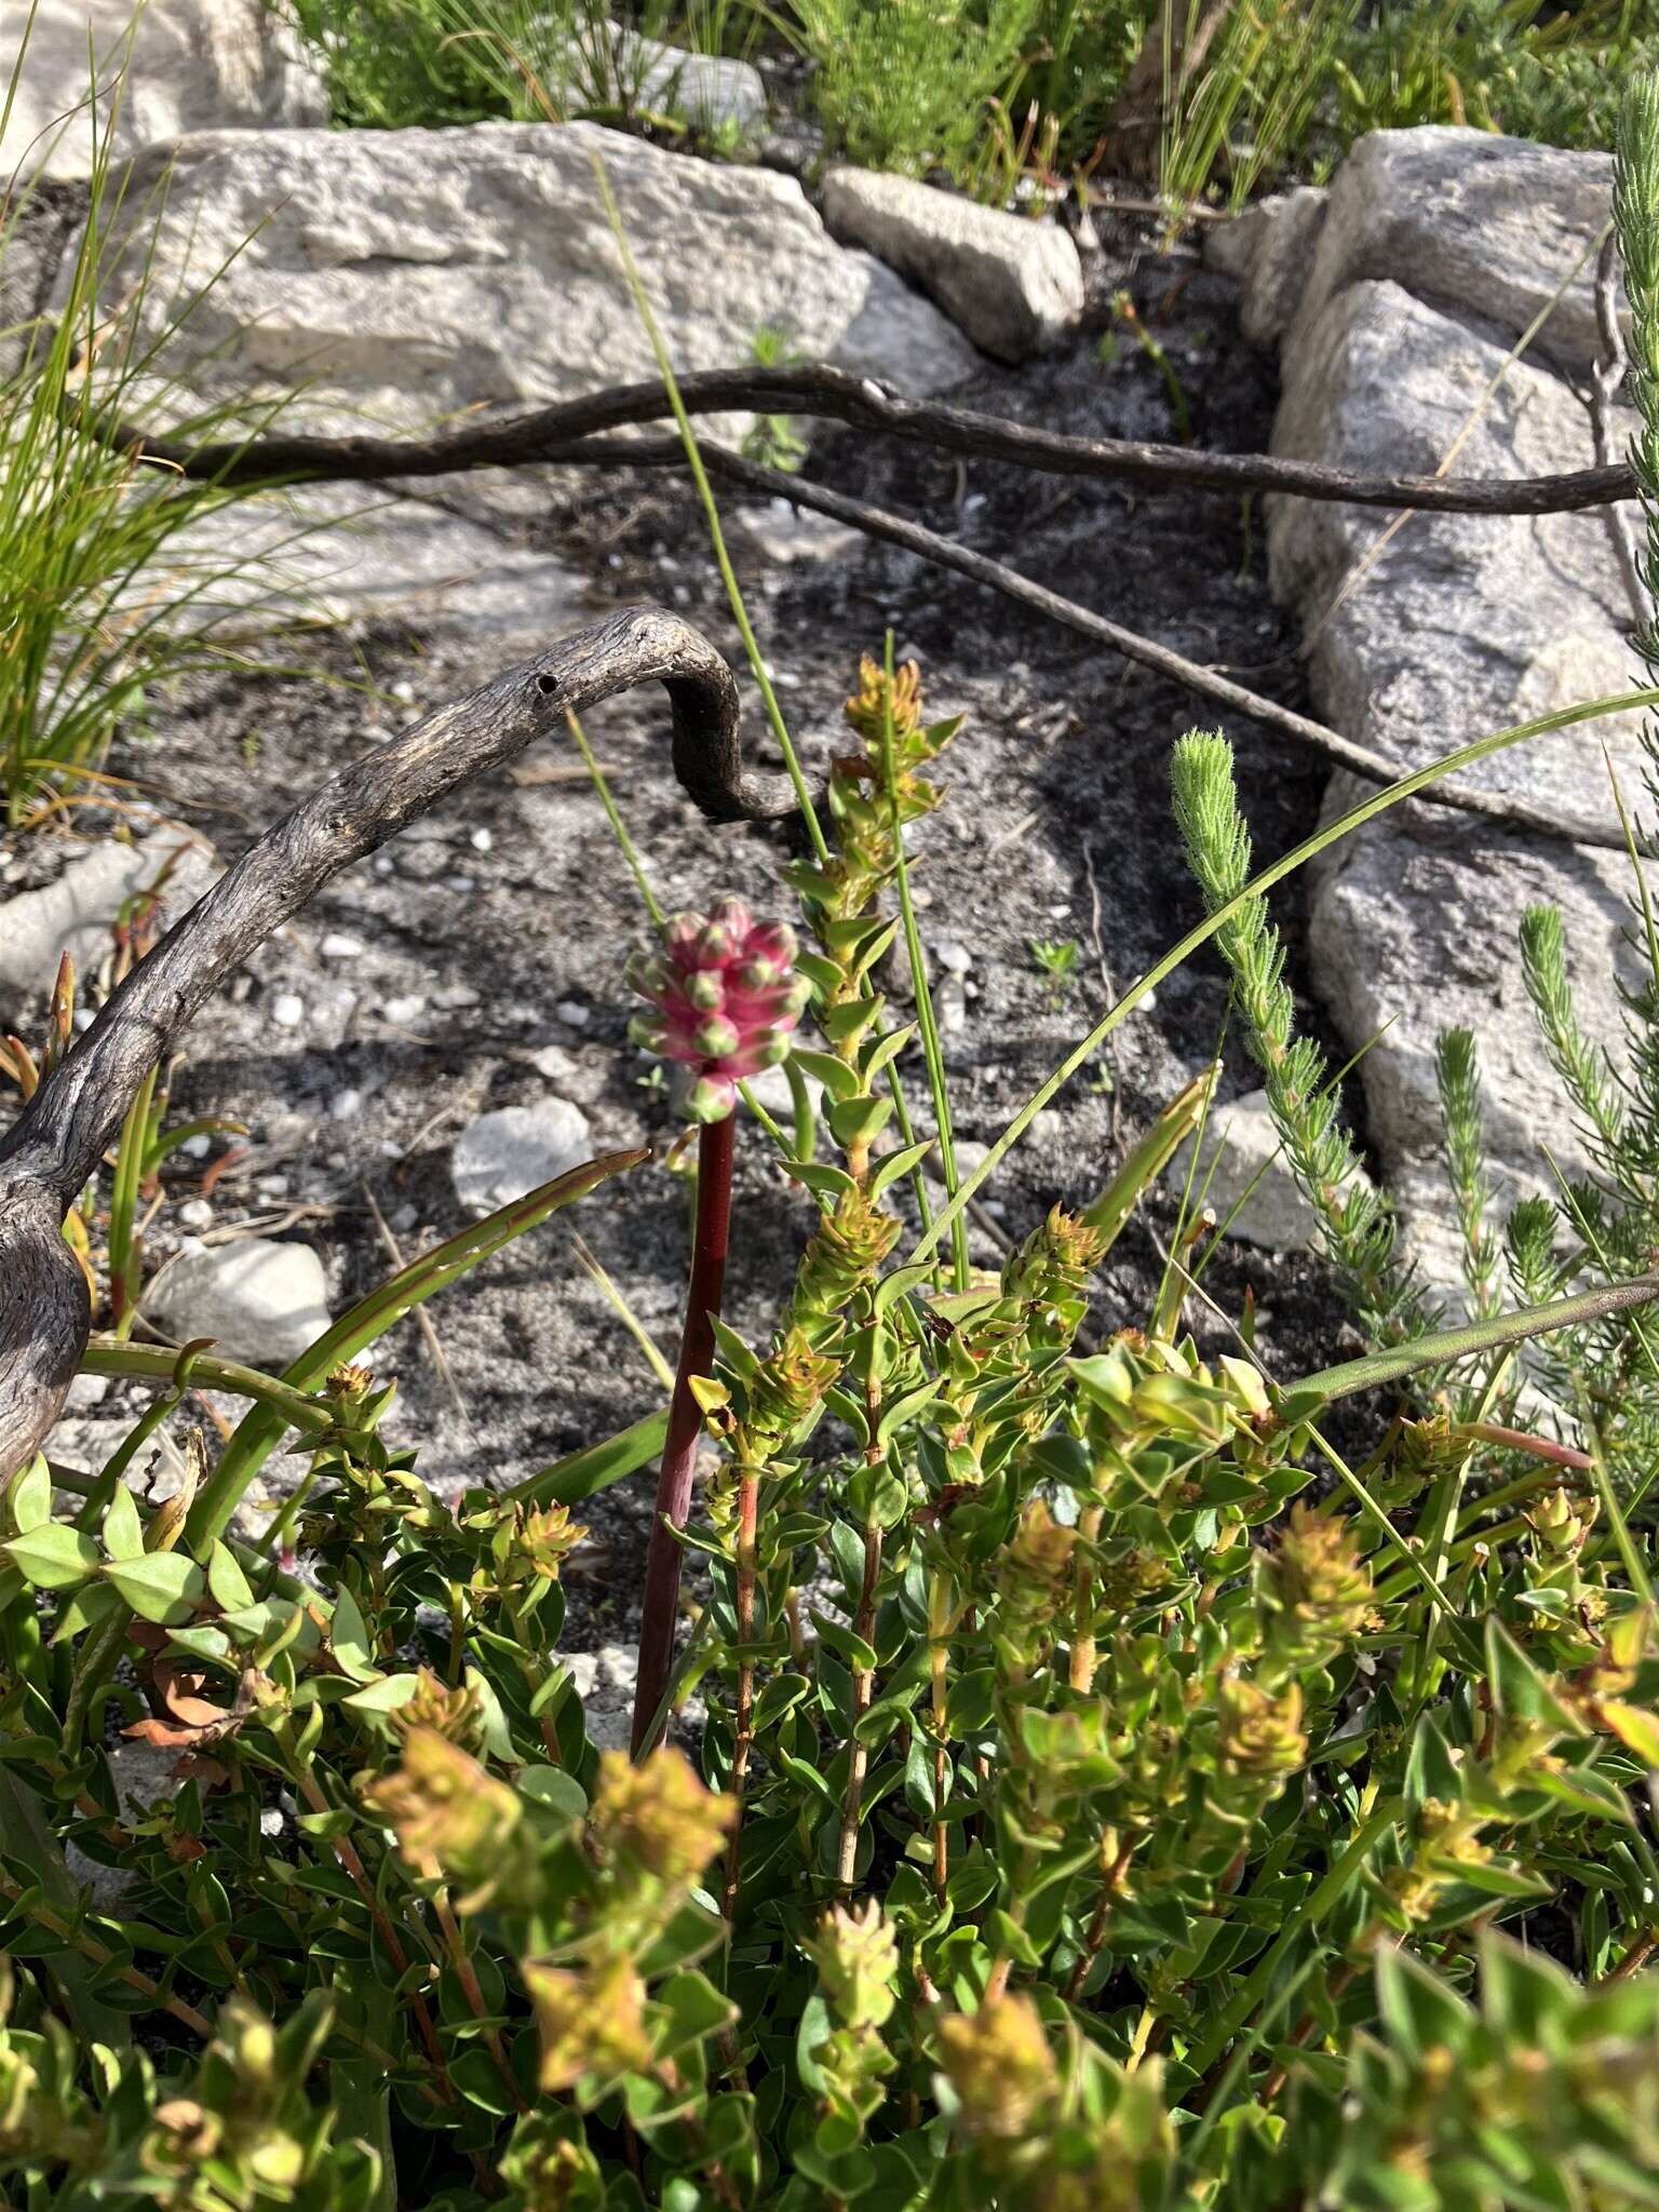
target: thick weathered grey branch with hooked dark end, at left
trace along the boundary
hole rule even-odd
[[[794,792],[750,781],[737,686],[677,615],[630,608],[495,677],[378,745],[303,799],[179,920],[77,1037],[0,1137],[0,1478],[58,1418],[86,1347],[86,1281],[64,1214],[97,1170],[146,1073],[215,987],[305,900],[458,783],[500,768],[566,712],[657,681],[672,703],[672,765],[710,821],[794,812]]]

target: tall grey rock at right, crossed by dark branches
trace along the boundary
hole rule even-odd
[[[1557,365],[1593,352],[1588,279],[1568,283],[1551,347],[1515,336],[1593,248],[1608,164],[1469,131],[1383,133],[1332,184],[1307,292],[1283,347],[1274,451],[1340,469],[1429,473],[1453,440],[1467,476],[1593,462]],[[1471,427],[1473,420],[1473,427]],[[1635,619],[1608,518],[1389,515],[1272,502],[1274,591],[1301,615],[1318,710],[1402,765],[1489,730],[1628,690]],[[1471,781],[1559,818],[1617,827],[1608,763],[1639,799],[1635,717],[1604,717],[1482,763]],[[1332,807],[1358,792],[1338,776]],[[1365,1051],[1371,1139],[1407,1241],[1455,1285],[1440,1170],[1436,1033],[1475,1033],[1500,1210],[1584,1166],[1522,989],[1517,925],[1566,918],[1579,1015],[1617,1046],[1630,874],[1621,856],[1506,832],[1442,807],[1398,810],[1325,860],[1310,956],[1345,1042]],[[1626,973],[1628,980],[1628,973]]]

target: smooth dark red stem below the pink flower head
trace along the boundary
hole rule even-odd
[[[668,1440],[657,1475],[657,1513],[646,1553],[646,1595],[639,1621],[639,1681],[633,1699],[633,1756],[650,1741],[657,1708],[668,1697],[675,1670],[675,1628],[679,1619],[679,1540],[675,1531],[690,1515],[692,1475],[697,1473],[697,1440],[703,1416],[690,1391],[692,1376],[706,1376],[714,1365],[714,1316],[726,1287],[726,1248],[732,1230],[732,1135],[737,1117],[706,1121],[697,1146],[697,1225],[692,1232],[690,1290],[686,1292],[686,1327],[679,1338],[675,1396],[668,1405]]]

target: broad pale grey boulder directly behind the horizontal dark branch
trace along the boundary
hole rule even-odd
[[[173,166],[148,314],[188,316],[201,392],[305,385],[334,425],[434,425],[655,374],[593,157],[604,159],[679,369],[794,354],[933,392],[971,347],[869,254],[836,246],[792,177],[664,153],[597,124],[210,131]],[[113,285],[135,263],[113,272]],[[177,369],[179,356],[175,356]]]

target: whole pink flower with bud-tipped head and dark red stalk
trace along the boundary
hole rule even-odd
[[[686,1327],[646,1551],[633,1703],[635,1759],[653,1741],[672,1681],[681,1557],[677,1531],[690,1515],[703,1425],[690,1378],[710,1374],[714,1365],[714,1316],[721,1310],[732,1221],[732,1108],[739,1082],[776,1066],[790,1053],[790,1033],[812,995],[812,984],[792,973],[792,962],[794,933],[783,922],[757,922],[741,900],[723,898],[708,920],[701,914],[677,916],[664,931],[661,953],[633,964],[628,978],[650,1000],[650,1013],[630,1024],[635,1044],[695,1071],[686,1110],[703,1124]]]

